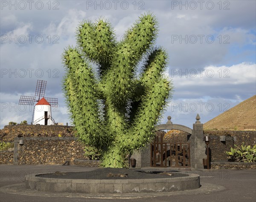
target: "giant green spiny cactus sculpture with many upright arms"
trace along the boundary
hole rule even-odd
[[[167,54],[152,48],[156,37],[152,14],[142,15],[119,42],[108,21],[84,21],[77,29],[78,46],[64,50],[70,116],[80,139],[101,151],[103,167],[122,168],[125,156],[152,140],[171,97],[172,83],[163,76]]]

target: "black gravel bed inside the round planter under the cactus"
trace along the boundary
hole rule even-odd
[[[50,179],[156,179],[187,176],[172,171],[134,171],[125,168],[99,168],[87,172],[59,172],[40,174],[37,177]]]

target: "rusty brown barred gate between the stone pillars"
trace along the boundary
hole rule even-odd
[[[163,142],[163,136],[151,144],[151,167],[190,167],[189,143]]]

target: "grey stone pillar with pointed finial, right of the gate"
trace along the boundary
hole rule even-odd
[[[200,116],[197,114],[196,122],[193,124],[193,134],[189,138],[190,142],[190,163],[192,168],[203,169],[203,160],[207,157],[205,154],[204,128],[200,122]]]

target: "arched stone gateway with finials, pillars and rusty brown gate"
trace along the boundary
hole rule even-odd
[[[157,125],[155,131],[179,130],[186,132],[187,142],[164,142],[163,134],[157,135],[152,144],[143,151],[135,152],[136,168],[143,167],[192,167],[204,168],[203,158],[206,158],[205,142],[203,141],[203,124],[197,114],[193,129],[185,125],[173,124],[171,117],[167,117],[166,124]]]

